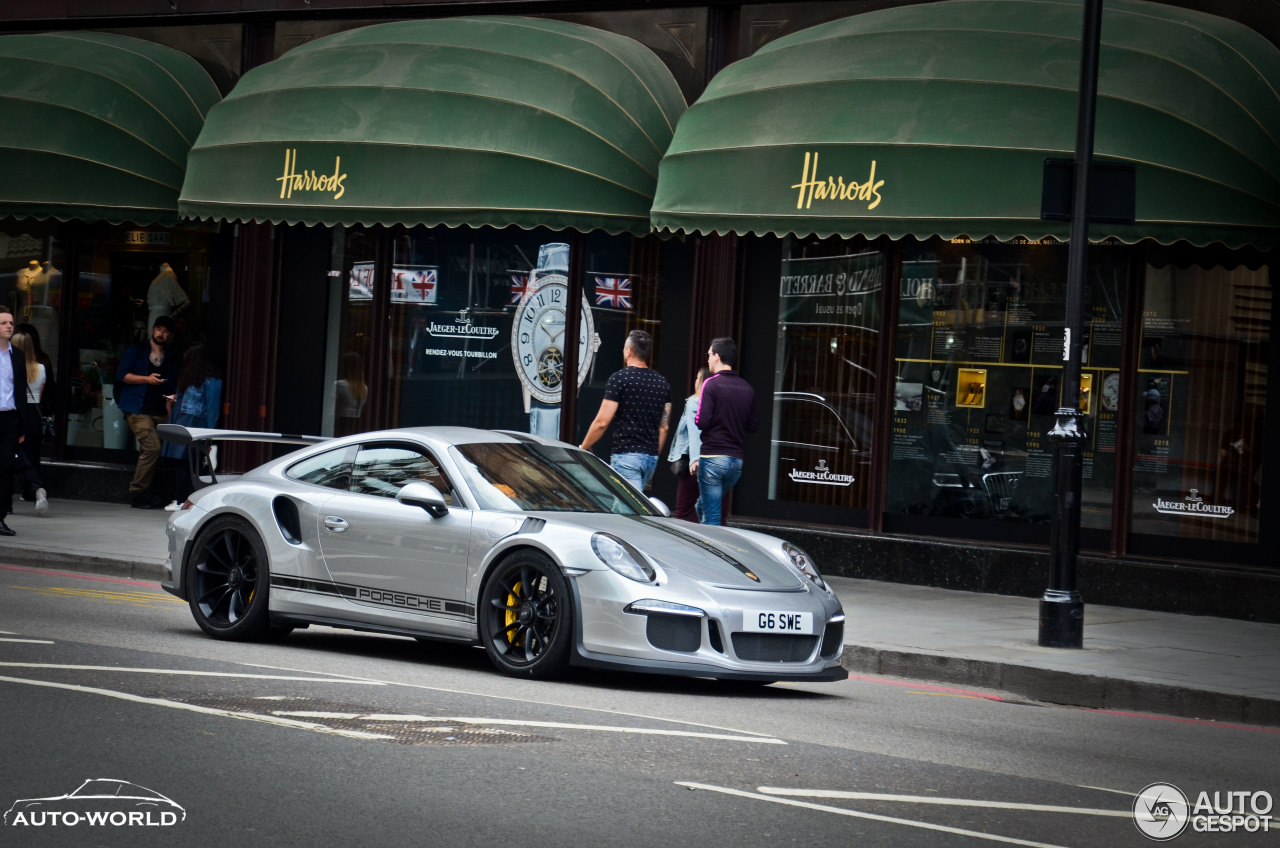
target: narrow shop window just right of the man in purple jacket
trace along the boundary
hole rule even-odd
[[[884,256],[787,240],[769,500],[867,507]]]

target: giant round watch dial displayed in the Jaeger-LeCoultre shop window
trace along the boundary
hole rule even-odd
[[[563,274],[544,274],[529,283],[511,324],[511,355],[516,375],[529,393],[544,404],[559,404],[564,377],[564,315],[568,281]],[[582,296],[582,320],[577,328],[577,384],[591,369],[595,322]]]

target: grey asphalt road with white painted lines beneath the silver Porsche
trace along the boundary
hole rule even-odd
[[[0,845],[1112,848],[1151,844],[1148,784],[1280,795],[1270,729],[883,678],[535,683],[326,628],[223,643],[152,584],[5,566],[0,729],[0,811],[115,779],[183,816],[68,824],[74,802],[46,802]]]

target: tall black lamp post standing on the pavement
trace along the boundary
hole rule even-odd
[[[1055,414],[1048,439],[1053,443],[1057,491],[1050,535],[1048,588],[1041,596],[1039,644],[1079,648],[1084,644],[1084,601],[1075,588],[1080,552],[1080,354],[1084,315],[1084,277],[1089,252],[1089,165],[1093,160],[1093,119],[1098,91],[1098,44],[1102,0],[1084,0],[1080,44],[1080,94],[1075,122],[1075,172],[1071,181],[1071,234],[1066,261],[1066,322],[1062,343],[1062,406]]]

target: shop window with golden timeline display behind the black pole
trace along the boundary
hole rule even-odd
[[[1120,252],[1091,251],[1080,395],[1085,528],[1110,526],[1124,278]],[[1046,434],[1064,400],[1065,302],[1065,246],[909,245],[886,512],[1052,520]]]

